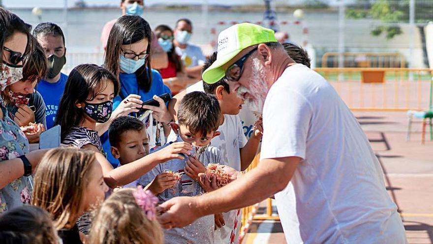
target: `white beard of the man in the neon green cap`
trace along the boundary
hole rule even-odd
[[[262,114],[266,95],[268,94],[269,89],[266,83],[264,67],[255,57],[252,59],[251,72],[253,78],[249,82],[249,89],[241,85],[237,91],[237,94],[238,97],[241,97],[243,93],[248,93],[251,95],[252,98],[246,98],[245,103],[252,112]]]

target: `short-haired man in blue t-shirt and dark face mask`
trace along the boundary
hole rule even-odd
[[[40,23],[33,30],[48,58],[48,73],[37,86],[46,105],[47,129],[54,126],[67,75],[61,70],[66,63],[66,47],[62,29],[54,23]]]

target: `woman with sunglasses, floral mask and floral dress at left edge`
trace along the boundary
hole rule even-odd
[[[30,25],[0,7],[1,90],[23,78],[23,60],[31,50],[29,31]],[[0,213],[3,213],[30,204],[31,173],[46,150],[29,152],[29,141],[8,116],[3,101],[0,108]]]

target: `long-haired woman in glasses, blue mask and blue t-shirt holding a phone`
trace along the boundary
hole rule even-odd
[[[164,144],[170,133],[168,123],[172,116],[166,104],[158,96],[171,95],[161,75],[151,67],[152,30],[149,23],[137,15],[120,17],[111,29],[105,50],[105,68],[119,77],[120,93],[113,101],[113,107],[131,106],[131,115],[140,118],[147,128],[149,144],[152,147]],[[149,115],[141,107],[142,101],[155,99],[159,106],[143,106],[152,110]],[[127,105],[127,104],[130,105]],[[98,129],[99,132],[101,130]],[[110,151],[107,133],[101,137],[104,151]],[[108,160],[114,165],[118,161],[112,155]]]

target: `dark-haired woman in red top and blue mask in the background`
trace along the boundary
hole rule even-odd
[[[167,52],[168,67],[160,69],[164,84],[166,84],[173,95],[186,88],[187,85],[196,82],[195,78],[188,77],[183,70],[182,60],[177,55],[173,46],[173,30],[166,25],[159,25],[155,28],[155,35],[159,45]]]

